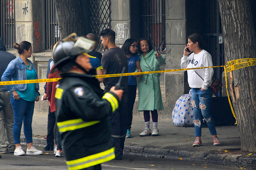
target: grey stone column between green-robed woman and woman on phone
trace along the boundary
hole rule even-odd
[[[166,70],[180,68],[186,45],[185,0],[166,0]],[[165,73],[165,111],[171,117],[176,101],[187,93],[187,74],[184,71]],[[167,112],[168,113],[167,113]]]

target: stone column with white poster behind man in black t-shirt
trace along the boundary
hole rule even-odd
[[[130,0],[111,0],[111,29],[116,32],[116,45],[130,38]]]

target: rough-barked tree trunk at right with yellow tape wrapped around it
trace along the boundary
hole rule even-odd
[[[256,58],[256,35],[248,0],[218,0],[225,60]],[[256,66],[228,74],[241,150],[256,152]]]

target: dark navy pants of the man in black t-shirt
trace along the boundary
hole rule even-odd
[[[111,137],[114,142],[116,159],[122,159],[127,130],[128,93],[124,92],[118,109],[110,115]]]

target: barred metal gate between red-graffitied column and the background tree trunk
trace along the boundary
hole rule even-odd
[[[54,0],[44,1],[44,30],[45,50],[52,50],[53,46],[60,40],[60,33],[57,21],[57,12]]]

